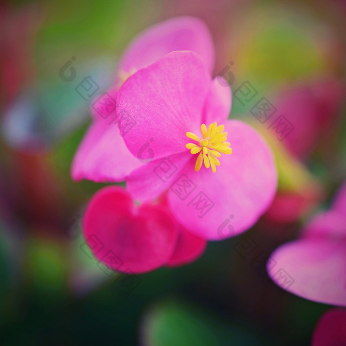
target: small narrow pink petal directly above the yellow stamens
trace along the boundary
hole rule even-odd
[[[220,79],[223,80],[218,76],[213,80],[206,98],[202,122],[207,127],[214,122],[223,124],[231,111],[231,88],[225,80],[220,84]]]

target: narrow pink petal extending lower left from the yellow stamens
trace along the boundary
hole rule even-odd
[[[191,160],[187,152],[151,161],[133,171],[126,179],[126,187],[135,200],[148,201],[170,188],[186,163]]]

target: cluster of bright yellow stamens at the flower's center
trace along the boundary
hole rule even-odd
[[[198,154],[195,171],[198,172],[202,163],[206,168],[211,167],[212,171],[216,172],[216,166],[220,166],[218,157],[222,154],[232,154],[232,149],[229,147],[230,143],[226,142],[227,132],[223,132],[224,126],[217,126],[216,123],[209,125],[208,130],[205,124],[201,125],[203,139],[200,139],[196,134],[192,132],[186,132],[187,137],[198,142],[187,143],[186,148],[190,149],[191,154]]]

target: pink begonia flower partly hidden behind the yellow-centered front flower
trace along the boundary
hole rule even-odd
[[[142,163],[127,149],[115,121],[115,103],[121,84],[134,72],[174,50],[192,50],[200,54],[211,71],[214,45],[205,24],[193,17],[177,17],[159,23],[141,33],[125,51],[114,86],[94,101],[93,122],[77,150],[71,167],[74,180],[96,182],[124,181]],[[109,106],[104,106],[108,102]]]

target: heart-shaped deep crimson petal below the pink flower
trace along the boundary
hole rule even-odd
[[[93,255],[113,270],[144,273],[167,263],[177,240],[177,225],[162,206],[135,209],[121,187],[105,187],[90,200],[83,218]]]

